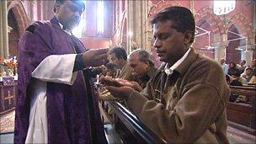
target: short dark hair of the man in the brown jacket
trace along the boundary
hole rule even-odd
[[[191,31],[194,41],[195,35],[195,18],[193,13],[188,8],[184,7],[169,7],[163,9],[160,13],[157,13],[152,19],[151,24],[157,24],[158,22],[172,21],[172,28],[176,29],[178,32],[185,33],[186,31]]]

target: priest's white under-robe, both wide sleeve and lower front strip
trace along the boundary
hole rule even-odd
[[[77,72],[72,72],[76,54],[47,56],[32,72],[29,130],[25,143],[47,143],[47,82],[74,83]]]

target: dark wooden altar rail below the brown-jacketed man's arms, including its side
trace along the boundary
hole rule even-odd
[[[125,133],[120,135],[124,143],[166,143],[161,137],[154,134],[146,125],[133,115],[131,111],[119,102],[104,101],[102,108],[105,112],[110,108],[112,110],[111,121],[116,131]],[[119,130],[118,130],[119,129]],[[129,137],[129,138],[125,138]]]

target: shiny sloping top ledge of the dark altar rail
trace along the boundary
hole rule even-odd
[[[154,134],[148,127],[141,123],[140,120],[136,118],[135,115],[131,113],[129,109],[126,109],[119,102],[108,101],[104,102],[109,108],[112,109],[112,113],[118,118],[114,118],[114,123],[116,120],[120,120],[122,124],[131,132],[135,137],[136,141],[140,143],[166,143],[161,137]],[[114,116],[114,117],[115,117]]]

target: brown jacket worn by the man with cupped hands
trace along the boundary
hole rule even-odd
[[[166,91],[161,82],[166,80],[164,67],[143,93],[131,94],[128,107],[168,143],[229,143],[226,106],[230,89],[221,66],[192,49],[173,72]]]

